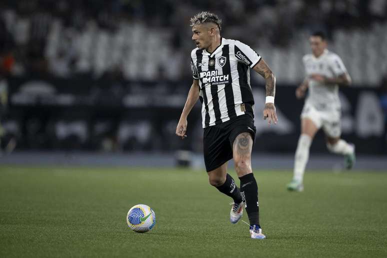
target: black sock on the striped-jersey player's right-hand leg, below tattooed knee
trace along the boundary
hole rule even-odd
[[[240,195],[247,211],[250,225],[259,225],[258,185],[252,173],[245,174],[240,179]]]

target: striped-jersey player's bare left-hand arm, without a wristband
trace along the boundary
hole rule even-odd
[[[185,132],[187,130],[187,117],[192,107],[195,105],[199,98],[199,80],[193,79],[191,88],[189,89],[187,100],[185,101],[184,108],[181,112],[180,119],[176,126],[176,135],[182,139],[186,137]]]

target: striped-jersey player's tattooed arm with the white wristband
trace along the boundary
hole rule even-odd
[[[261,58],[259,62],[253,67],[253,70],[259,73],[266,81],[266,97],[275,97],[275,75],[268,67],[267,63]],[[277,123],[278,118],[275,112],[274,101],[266,102],[263,108],[263,119],[268,118],[268,124],[270,122]]]

